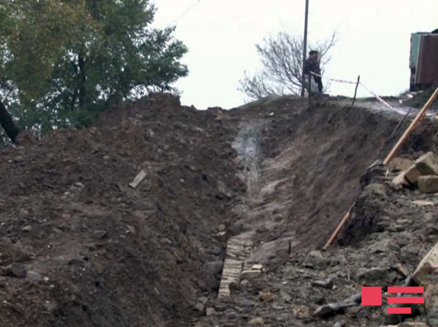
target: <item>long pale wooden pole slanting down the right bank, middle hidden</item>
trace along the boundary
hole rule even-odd
[[[401,147],[401,145],[404,143],[406,138],[408,138],[408,136],[410,135],[412,130],[415,128],[415,126],[417,126],[419,120],[426,113],[427,109],[430,107],[430,105],[432,105],[433,101],[435,101],[437,96],[438,96],[438,87],[437,87],[437,89],[435,89],[435,92],[433,92],[432,96],[430,96],[428,102],[426,102],[423,109],[421,109],[421,111],[417,114],[417,117],[415,117],[415,119],[412,121],[412,123],[410,124],[408,129],[406,129],[403,136],[401,136],[401,138],[399,139],[399,141],[397,142],[395,147],[392,148],[392,150],[390,151],[390,153],[388,154],[388,156],[386,157],[386,159],[384,161],[384,165],[388,165],[388,162],[390,162],[390,160],[394,157],[394,155],[397,152],[397,150],[399,149],[399,147]],[[341,222],[339,222],[337,228],[335,229],[335,231],[332,233],[332,235],[328,239],[326,245],[324,245],[324,247],[323,247],[324,250],[326,250],[328,248],[328,246],[332,245],[333,242],[335,242],[337,236],[341,232],[342,227],[344,227],[347,220],[350,219],[350,211],[351,211],[352,207],[355,205],[355,203],[353,203],[351,205],[351,207],[350,207],[350,209],[348,209],[346,215],[344,215],[344,218],[342,218]]]

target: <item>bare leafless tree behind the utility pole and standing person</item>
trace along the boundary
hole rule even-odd
[[[336,43],[335,33],[329,39],[313,43],[311,50],[321,54],[321,67],[330,61],[329,50]],[[256,45],[262,69],[254,76],[239,81],[239,90],[252,99],[263,96],[296,94],[301,91],[303,71],[303,40],[286,32],[268,36]]]

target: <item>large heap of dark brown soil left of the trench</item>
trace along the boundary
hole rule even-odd
[[[229,131],[154,95],[0,157],[1,326],[181,326],[243,191]],[[140,169],[146,180],[130,189]],[[234,199],[234,200],[233,200]],[[8,273],[18,264],[28,277]],[[209,269],[210,267],[210,269]]]

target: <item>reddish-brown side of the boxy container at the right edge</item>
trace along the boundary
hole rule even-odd
[[[421,37],[416,84],[438,81],[438,34]]]

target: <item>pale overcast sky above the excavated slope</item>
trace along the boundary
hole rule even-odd
[[[180,17],[175,36],[188,46],[183,62],[190,70],[177,87],[181,102],[198,109],[237,107],[243,72],[260,68],[255,43],[280,30],[302,36],[305,0],[152,0],[155,27]],[[309,39],[336,30],[338,41],[325,75],[361,81],[381,95],[409,87],[411,32],[438,28],[438,0],[310,0]],[[330,94],[352,96],[354,86],[332,83]],[[359,96],[368,96],[359,89]]]

